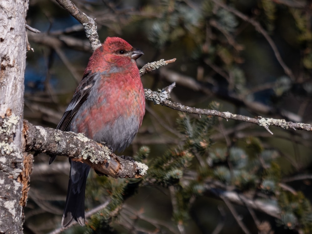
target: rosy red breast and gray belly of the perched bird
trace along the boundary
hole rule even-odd
[[[82,132],[114,150],[124,150],[141,126],[145,98],[139,73],[110,74],[97,80],[76,115],[72,131]]]

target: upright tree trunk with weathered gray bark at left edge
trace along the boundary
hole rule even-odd
[[[22,152],[27,10],[27,0],[0,1],[0,233],[22,233],[24,160],[32,162]]]

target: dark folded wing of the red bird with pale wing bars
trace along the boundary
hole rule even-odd
[[[80,109],[81,105],[88,99],[90,91],[95,83],[95,73],[90,74],[86,73],[79,86],[77,87],[74,96],[69,103],[63,117],[60,120],[60,123],[57,125],[56,129],[62,131],[69,131],[70,124],[74,116],[77,114],[77,111]]]

